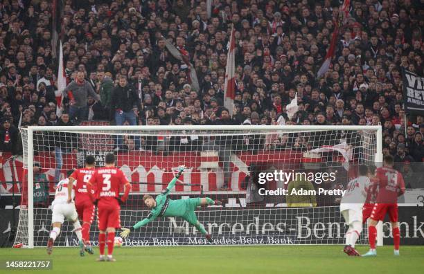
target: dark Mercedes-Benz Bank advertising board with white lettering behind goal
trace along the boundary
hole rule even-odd
[[[211,214],[211,212],[214,212]],[[134,214],[121,210],[125,221],[123,227],[130,226],[147,216],[142,210]],[[207,210],[196,212],[206,231],[211,232],[216,245],[251,244],[344,244],[347,230],[338,207],[323,208],[267,208],[251,210]],[[0,214],[1,215],[1,214]],[[270,218],[272,216],[272,218]],[[51,211],[39,209],[34,216],[37,240],[35,246],[44,246],[48,240],[45,221],[51,218]],[[399,208],[400,237],[403,244],[424,245],[424,211],[422,208]],[[330,220],[330,221],[328,221]],[[6,226],[7,223],[5,223]],[[4,228],[6,229],[6,227]],[[56,239],[58,246],[78,246],[74,232],[64,229]],[[91,227],[92,239],[98,237],[98,228]],[[392,244],[390,230],[385,232],[385,243]],[[94,243],[95,245],[97,242]],[[123,246],[193,246],[209,243],[181,218],[161,217],[148,230],[136,230],[131,237],[124,239]],[[360,244],[368,244],[366,232],[360,237]]]

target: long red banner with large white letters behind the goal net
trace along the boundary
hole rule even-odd
[[[66,176],[67,170],[71,170],[77,165],[76,154],[64,154],[61,176]],[[179,152],[169,154],[168,156],[154,155],[151,152],[125,152],[117,155],[117,165],[125,172],[130,181],[141,184],[134,184],[132,192],[159,192],[166,187],[173,176],[177,174],[177,168],[180,165],[188,167],[184,175],[180,177],[179,182],[188,185],[179,185],[177,183],[176,191],[192,192],[200,191],[200,185],[203,191],[217,190],[224,181],[224,172],[222,168],[204,169],[202,163],[210,161],[206,156],[202,157],[196,152]],[[55,155],[44,152],[34,157],[42,166],[42,173],[46,174],[48,181],[54,181],[55,176]],[[249,174],[249,165],[251,163],[300,163],[301,152],[274,152],[261,151],[258,154],[244,152],[231,157],[230,172],[231,190],[240,190],[240,184]],[[3,154],[1,158],[2,169],[0,172],[0,192],[12,193],[12,183],[21,182],[23,177],[23,164],[21,156],[11,156]],[[220,166],[222,163],[220,163]],[[193,184],[193,185],[190,185]],[[21,191],[21,184],[15,184],[15,193]],[[51,184],[53,191],[53,184]]]

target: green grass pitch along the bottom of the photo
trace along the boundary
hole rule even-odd
[[[377,248],[378,257],[348,257],[342,246],[198,246],[116,248],[116,262],[96,262],[94,255],[78,255],[78,248],[55,248],[48,256],[45,248],[0,248],[5,259],[52,259],[53,270],[35,273],[421,273],[424,246]],[[368,246],[359,246],[365,253]],[[34,273],[30,270],[0,273]]]

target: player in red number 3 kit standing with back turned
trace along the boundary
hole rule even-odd
[[[124,203],[130,194],[131,184],[123,174],[122,170],[115,167],[114,154],[107,154],[105,157],[105,167],[100,167],[90,181],[87,183],[87,190],[91,201],[97,204],[98,246],[100,257],[98,261],[114,262],[112,257],[114,250],[115,230],[121,228],[119,217],[121,204]],[[124,194],[119,197],[119,189],[124,186]],[[91,189],[96,186],[96,194],[91,193]],[[105,257],[106,234],[107,232],[107,257]]]

